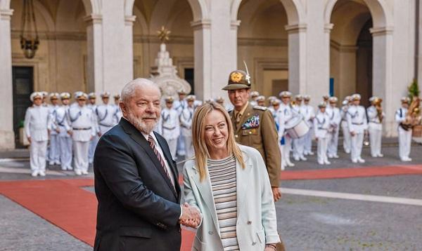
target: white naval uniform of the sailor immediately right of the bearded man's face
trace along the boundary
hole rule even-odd
[[[165,107],[161,111],[158,133],[167,140],[173,159],[177,158],[177,139],[180,135],[179,114],[175,109]]]

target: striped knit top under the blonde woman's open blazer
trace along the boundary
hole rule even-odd
[[[239,250],[236,236],[236,158],[232,155],[219,160],[208,159],[207,168],[224,251]]]

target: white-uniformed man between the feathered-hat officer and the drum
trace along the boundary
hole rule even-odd
[[[288,123],[288,121],[290,121],[290,119],[293,118],[295,114],[295,111],[293,110],[290,104],[292,93],[290,93],[289,91],[282,91],[279,96],[281,98],[281,102],[283,102],[280,107],[281,112],[279,116],[279,137],[283,142],[281,151],[281,165],[293,167],[295,166],[295,164],[291,163],[290,161],[292,138],[286,133],[286,123]]]

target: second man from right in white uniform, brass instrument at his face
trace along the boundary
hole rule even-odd
[[[372,157],[383,157],[381,154],[381,138],[383,137],[383,118],[385,116],[381,109],[381,98],[373,96],[369,99],[371,106],[366,109],[368,115],[368,132]]]

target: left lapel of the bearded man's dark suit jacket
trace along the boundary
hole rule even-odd
[[[151,158],[151,161],[153,161],[155,168],[158,170],[158,172],[160,172],[162,178],[165,180],[167,186],[169,186],[169,189],[172,190],[174,197],[178,198],[176,191],[174,191],[172,182],[165,174],[165,171],[164,169],[162,169],[160,161],[158,161],[157,156],[155,155],[148,141],[146,141],[145,137],[143,137],[142,133],[139,132],[139,130],[137,130],[134,126],[132,126],[132,124],[129,123],[129,121],[127,121],[126,119],[121,119],[120,125],[122,125],[124,130],[130,135],[130,137],[132,137],[132,140],[139,144],[146,152],[146,154],[148,154],[148,156]],[[177,179],[175,181],[177,181]]]

